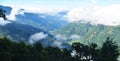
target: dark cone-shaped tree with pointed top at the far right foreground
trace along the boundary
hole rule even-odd
[[[117,61],[119,54],[118,45],[108,37],[102,45],[99,61]]]

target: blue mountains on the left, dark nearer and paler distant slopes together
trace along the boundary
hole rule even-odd
[[[9,16],[14,8],[8,6],[0,6],[6,11]],[[19,9],[24,11],[24,9]],[[15,14],[15,20],[10,20],[10,23],[0,25],[0,36],[6,36],[14,41],[25,41],[26,43],[41,42],[43,46],[57,46],[59,48],[70,48],[67,43],[57,41],[54,35],[49,31],[59,29],[68,24],[62,15],[66,12],[58,13],[58,16],[24,12],[23,14]],[[8,18],[9,19],[9,18]],[[3,21],[4,22],[4,21]],[[9,22],[9,20],[8,20]]]

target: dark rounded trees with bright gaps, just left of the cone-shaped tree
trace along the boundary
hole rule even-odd
[[[77,54],[75,55],[76,61],[97,61],[98,49],[96,44],[83,45],[81,43],[74,43],[72,47]]]

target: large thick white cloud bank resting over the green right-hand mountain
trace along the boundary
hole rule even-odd
[[[120,25],[120,5],[81,7],[70,10],[65,16],[70,22],[82,21],[109,26]]]

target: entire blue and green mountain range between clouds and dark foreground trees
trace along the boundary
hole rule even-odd
[[[1,9],[6,10],[6,14],[10,15],[12,7],[0,6]],[[43,37],[44,45],[66,45],[66,43],[81,42],[88,44],[95,42],[101,45],[107,37],[112,38],[115,42],[119,42],[120,26],[105,26],[93,25],[82,22],[68,22],[63,17],[67,11],[59,12],[56,15],[49,15],[45,13],[26,12],[24,9],[19,9],[24,14],[16,14],[15,20],[5,26],[0,26],[0,35],[7,36],[13,40],[30,41],[31,37],[37,35]],[[18,13],[19,13],[18,11]],[[38,34],[37,34],[38,33]]]

